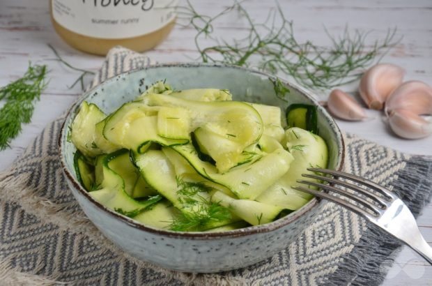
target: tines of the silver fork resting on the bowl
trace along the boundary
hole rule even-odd
[[[322,168],[308,168],[307,170],[314,172],[314,174],[302,174],[302,176],[310,179],[316,179],[318,181],[298,180],[298,183],[304,183],[308,185],[309,188],[305,188],[303,186],[295,186],[293,187],[295,188],[295,190],[310,193],[311,195],[315,195],[316,197],[321,197],[336,204],[341,204],[342,206],[346,206],[348,209],[355,211],[356,213],[359,213],[361,215],[372,215],[374,217],[378,217],[383,213],[383,211],[385,211],[385,209],[387,209],[387,206],[394,200],[394,195],[392,195],[389,190],[383,188],[382,186],[379,186],[373,181],[363,179],[360,176]],[[353,181],[354,183],[358,183],[361,186],[364,186],[365,188],[354,185],[353,183],[348,183],[347,181],[342,181],[341,179],[337,178],[348,179],[350,181]],[[320,181],[328,182],[330,184],[321,183]],[[327,192],[314,190],[310,188],[311,186],[321,188],[322,190],[326,190]],[[345,188],[353,190],[354,193],[342,188],[337,188],[337,186],[343,186]],[[341,196],[336,196],[334,195],[334,193],[337,193]],[[380,195],[378,195],[377,193],[379,193]],[[349,200],[347,200],[347,198]],[[366,200],[366,198],[369,198],[369,200]],[[350,202],[350,200],[356,202],[357,204]],[[363,206],[363,208],[361,206]]]

